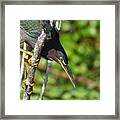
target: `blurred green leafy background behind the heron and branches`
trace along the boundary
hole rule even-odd
[[[99,100],[100,99],[100,21],[62,21],[60,41],[68,55],[69,66],[75,77],[76,88],[56,62],[52,62],[44,100]],[[45,78],[46,60],[41,59],[35,73],[32,100],[39,99]],[[20,98],[23,97],[21,87]]]

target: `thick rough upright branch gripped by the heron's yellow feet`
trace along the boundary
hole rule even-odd
[[[40,53],[41,53],[42,47],[44,46],[44,43],[46,40],[45,38],[46,38],[46,34],[42,32],[41,36],[38,37],[38,41],[35,44],[34,53],[31,58],[31,65],[29,66],[28,76],[26,79],[26,87],[25,87],[24,96],[23,96],[24,100],[30,100],[30,96],[33,91],[34,73],[36,70],[36,68],[34,67],[34,64],[36,64],[37,59],[40,60]]]

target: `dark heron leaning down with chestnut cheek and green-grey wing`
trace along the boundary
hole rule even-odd
[[[23,29],[29,37],[33,38],[33,41],[25,40],[25,42],[28,44],[29,50],[34,48],[35,43],[40,36],[42,30],[40,20],[21,20],[20,28]],[[75,84],[73,82],[74,78],[68,66],[68,57],[60,43],[59,31],[55,26],[53,26],[51,29],[51,36],[51,39],[46,40],[44,47],[41,51],[41,56],[47,60],[54,60],[59,63],[68,75],[72,85],[75,87]]]

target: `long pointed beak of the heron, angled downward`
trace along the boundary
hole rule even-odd
[[[61,65],[61,67],[64,69],[64,71],[66,72],[67,76],[69,77],[73,87],[75,88],[75,83],[73,82],[74,81],[74,77],[73,77],[73,74],[71,72],[71,69],[70,67],[63,63],[59,58],[56,58],[57,59],[57,62]]]

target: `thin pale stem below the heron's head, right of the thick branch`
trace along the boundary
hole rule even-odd
[[[42,89],[41,89],[41,93],[40,93],[40,100],[43,100],[43,95],[44,95],[44,92],[46,89],[50,67],[51,67],[51,61],[47,60],[47,67],[46,67],[46,73],[45,73],[46,75],[45,75],[45,79],[43,81],[43,85],[42,85]]]

